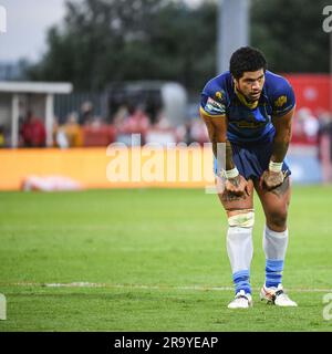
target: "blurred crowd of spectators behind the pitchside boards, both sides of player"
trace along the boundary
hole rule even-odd
[[[72,112],[65,117],[63,124],[59,122],[60,119],[54,117],[53,146],[60,148],[107,146],[115,142],[144,145],[180,142],[204,144],[209,140],[205,124],[199,118],[198,108],[188,114],[184,124],[173,126],[162,110],[155,117],[151,117],[144,105],[121,105],[106,122],[94,114],[91,102],[84,102],[79,112]],[[19,134],[20,147],[46,146],[44,119],[35,116],[32,111],[28,111],[25,116],[20,117]],[[139,142],[132,139],[133,134],[141,134]],[[320,146],[324,137],[332,140],[331,113],[299,108],[293,121],[292,143]],[[0,147],[8,146],[7,139],[8,134],[0,126]],[[332,144],[330,146],[332,156]]]

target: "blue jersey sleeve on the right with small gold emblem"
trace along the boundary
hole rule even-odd
[[[286,79],[281,79],[272,95],[272,115],[280,117],[295,106],[295,95],[292,86]]]

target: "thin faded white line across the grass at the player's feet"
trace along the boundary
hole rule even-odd
[[[190,290],[190,291],[232,291],[232,287],[209,287],[209,285],[144,285],[144,284],[111,284],[111,283],[91,283],[91,282],[71,282],[71,283],[37,283],[37,282],[18,282],[18,283],[0,283],[0,285],[9,287],[33,287],[33,288],[111,288],[111,289],[143,289],[143,290]],[[252,290],[259,290],[253,288]],[[294,292],[332,292],[332,289],[320,288],[287,288]]]

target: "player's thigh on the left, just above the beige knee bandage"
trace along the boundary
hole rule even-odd
[[[253,208],[253,183],[251,179],[248,180],[248,189],[250,195],[243,197],[236,196],[232,192],[225,190],[225,185],[221,178],[217,177],[216,180],[218,197],[227,212],[228,217],[246,211]]]

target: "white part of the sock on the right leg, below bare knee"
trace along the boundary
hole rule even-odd
[[[264,227],[263,250],[267,260],[284,260],[288,246],[288,229],[277,232]]]

